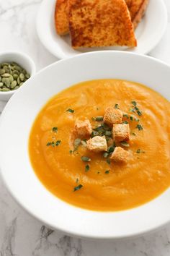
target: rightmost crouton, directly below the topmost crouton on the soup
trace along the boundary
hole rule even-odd
[[[129,140],[130,138],[129,124],[113,124],[112,136],[115,142]]]

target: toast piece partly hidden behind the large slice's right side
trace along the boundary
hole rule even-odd
[[[130,11],[133,27],[136,28],[138,23],[146,12],[149,0],[125,0]]]

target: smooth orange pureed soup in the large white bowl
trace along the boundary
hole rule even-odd
[[[130,125],[130,140],[122,143],[130,155],[126,163],[89,151],[86,140],[75,142],[76,120],[89,119],[96,129],[102,118],[95,118],[108,106],[120,109],[122,122]],[[42,108],[30,132],[30,161],[42,184],[89,210],[125,210],[160,195],[170,184],[169,151],[169,101],[122,80],[92,80],[63,90]]]

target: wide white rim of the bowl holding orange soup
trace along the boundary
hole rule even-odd
[[[84,210],[48,192],[37,179],[28,154],[30,129],[42,106],[73,84],[104,78],[140,82],[170,100],[170,67],[151,57],[99,51],[58,61],[28,80],[4,108],[0,119],[0,165],[6,187],[32,216],[75,236],[116,239],[143,234],[168,223],[170,189],[130,210]]]

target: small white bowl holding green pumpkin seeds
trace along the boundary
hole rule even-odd
[[[0,64],[2,62],[17,62],[21,67],[27,70],[27,72],[32,77],[35,74],[35,63],[32,61],[30,56],[19,51],[11,52],[0,52]],[[18,90],[18,89],[17,89]],[[9,101],[9,98],[17,92],[17,90],[11,90],[9,92],[0,91],[0,101]]]

